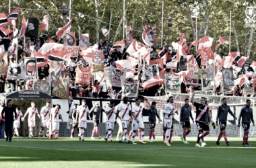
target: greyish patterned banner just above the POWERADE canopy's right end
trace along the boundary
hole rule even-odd
[[[34,91],[42,91],[48,95],[51,95],[51,80],[35,80],[33,85]]]

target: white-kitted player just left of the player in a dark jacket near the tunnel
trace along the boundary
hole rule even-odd
[[[77,113],[77,115],[75,117],[75,121],[76,121],[76,123],[78,122],[79,140],[82,139],[82,141],[84,141],[84,131],[86,131],[86,128],[87,128],[87,124],[86,124],[87,116],[90,118],[89,108],[88,108],[88,106],[86,106],[86,99],[82,99],[82,105],[80,105],[77,108],[76,113]],[[91,120],[91,118],[90,118],[90,120]]]

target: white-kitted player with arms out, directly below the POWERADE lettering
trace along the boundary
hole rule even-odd
[[[38,114],[38,110],[36,108],[36,103],[34,101],[31,101],[31,107],[28,108],[25,116],[22,118],[22,122],[24,121],[24,118],[28,115],[28,127],[30,128],[30,134],[28,135],[29,138],[33,138],[33,128],[36,126],[36,114],[38,118],[40,119],[40,115]]]

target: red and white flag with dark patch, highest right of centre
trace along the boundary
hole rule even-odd
[[[156,41],[156,25],[154,27],[146,25],[143,33],[142,40],[147,46],[152,46],[152,41]]]

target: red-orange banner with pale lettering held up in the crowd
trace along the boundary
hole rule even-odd
[[[90,85],[91,67],[79,67],[77,66],[75,83]]]

